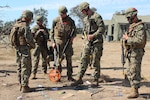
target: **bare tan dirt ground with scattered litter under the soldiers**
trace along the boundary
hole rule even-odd
[[[78,35],[74,41],[73,77],[76,78],[79,58],[82,50],[82,40]],[[142,82],[139,89],[140,96],[135,100],[150,100],[150,42],[145,48],[142,62]],[[53,62],[50,62],[53,66]],[[127,100],[126,90],[129,84],[124,80],[121,64],[120,42],[104,41],[103,56],[101,58],[100,86],[91,87],[93,69],[88,68],[83,77],[84,85],[71,87],[67,81],[65,60],[62,62],[63,71],[61,82],[54,83],[44,76],[41,71],[41,62],[36,80],[29,80],[32,88],[30,93],[21,93],[17,81],[17,67],[15,51],[0,44],[0,100]],[[127,66],[127,64],[125,64]],[[48,72],[51,69],[48,70]]]

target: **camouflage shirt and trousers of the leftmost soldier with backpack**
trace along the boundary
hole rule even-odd
[[[17,62],[17,73],[18,81],[22,86],[28,86],[28,80],[31,74],[31,54],[30,49],[35,47],[33,36],[30,31],[29,24],[25,21],[17,21],[19,26],[19,32],[22,34],[18,39],[20,40],[20,45],[16,47],[16,62]],[[23,42],[22,42],[23,41]]]

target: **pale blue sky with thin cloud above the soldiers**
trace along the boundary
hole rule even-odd
[[[0,6],[10,6],[10,8],[0,8],[0,19],[4,22],[13,21],[21,16],[23,10],[33,8],[44,8],[48,10],[48,27],[51,27],[52,20],[58,16],[57,9],[65,5],[68,10],[80,4],[84,0],[0,0]],[[104,20],[111,19],[116,11],[125,10],[129,7],[138,9],[139,15],[150,15],[149,0],[86,0],[90,7],[95,7]],[[68,12],[69,13],[69,12]],[[74,20],[76,18],[72,17]]]

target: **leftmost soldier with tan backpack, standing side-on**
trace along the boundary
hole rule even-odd
[[[15,34],[15,41],[17,42],[15,43],[17,44],[15,45],[17,74],[21,85],[20,91],[23,93],[31,91],[28,86],[32,68],[30,49],[35,48],[33,36],[29,27],[32,19],[33,13],[29,10],[25,10],[23,11],[21,18],[17,20],[13,27],[17,29],[17,33]]]

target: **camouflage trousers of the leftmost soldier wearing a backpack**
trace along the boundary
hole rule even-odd
[[[16,49],[18,81],[22,86],[28,86],[31,74],[31,54],[29,47],[20,46]]]

